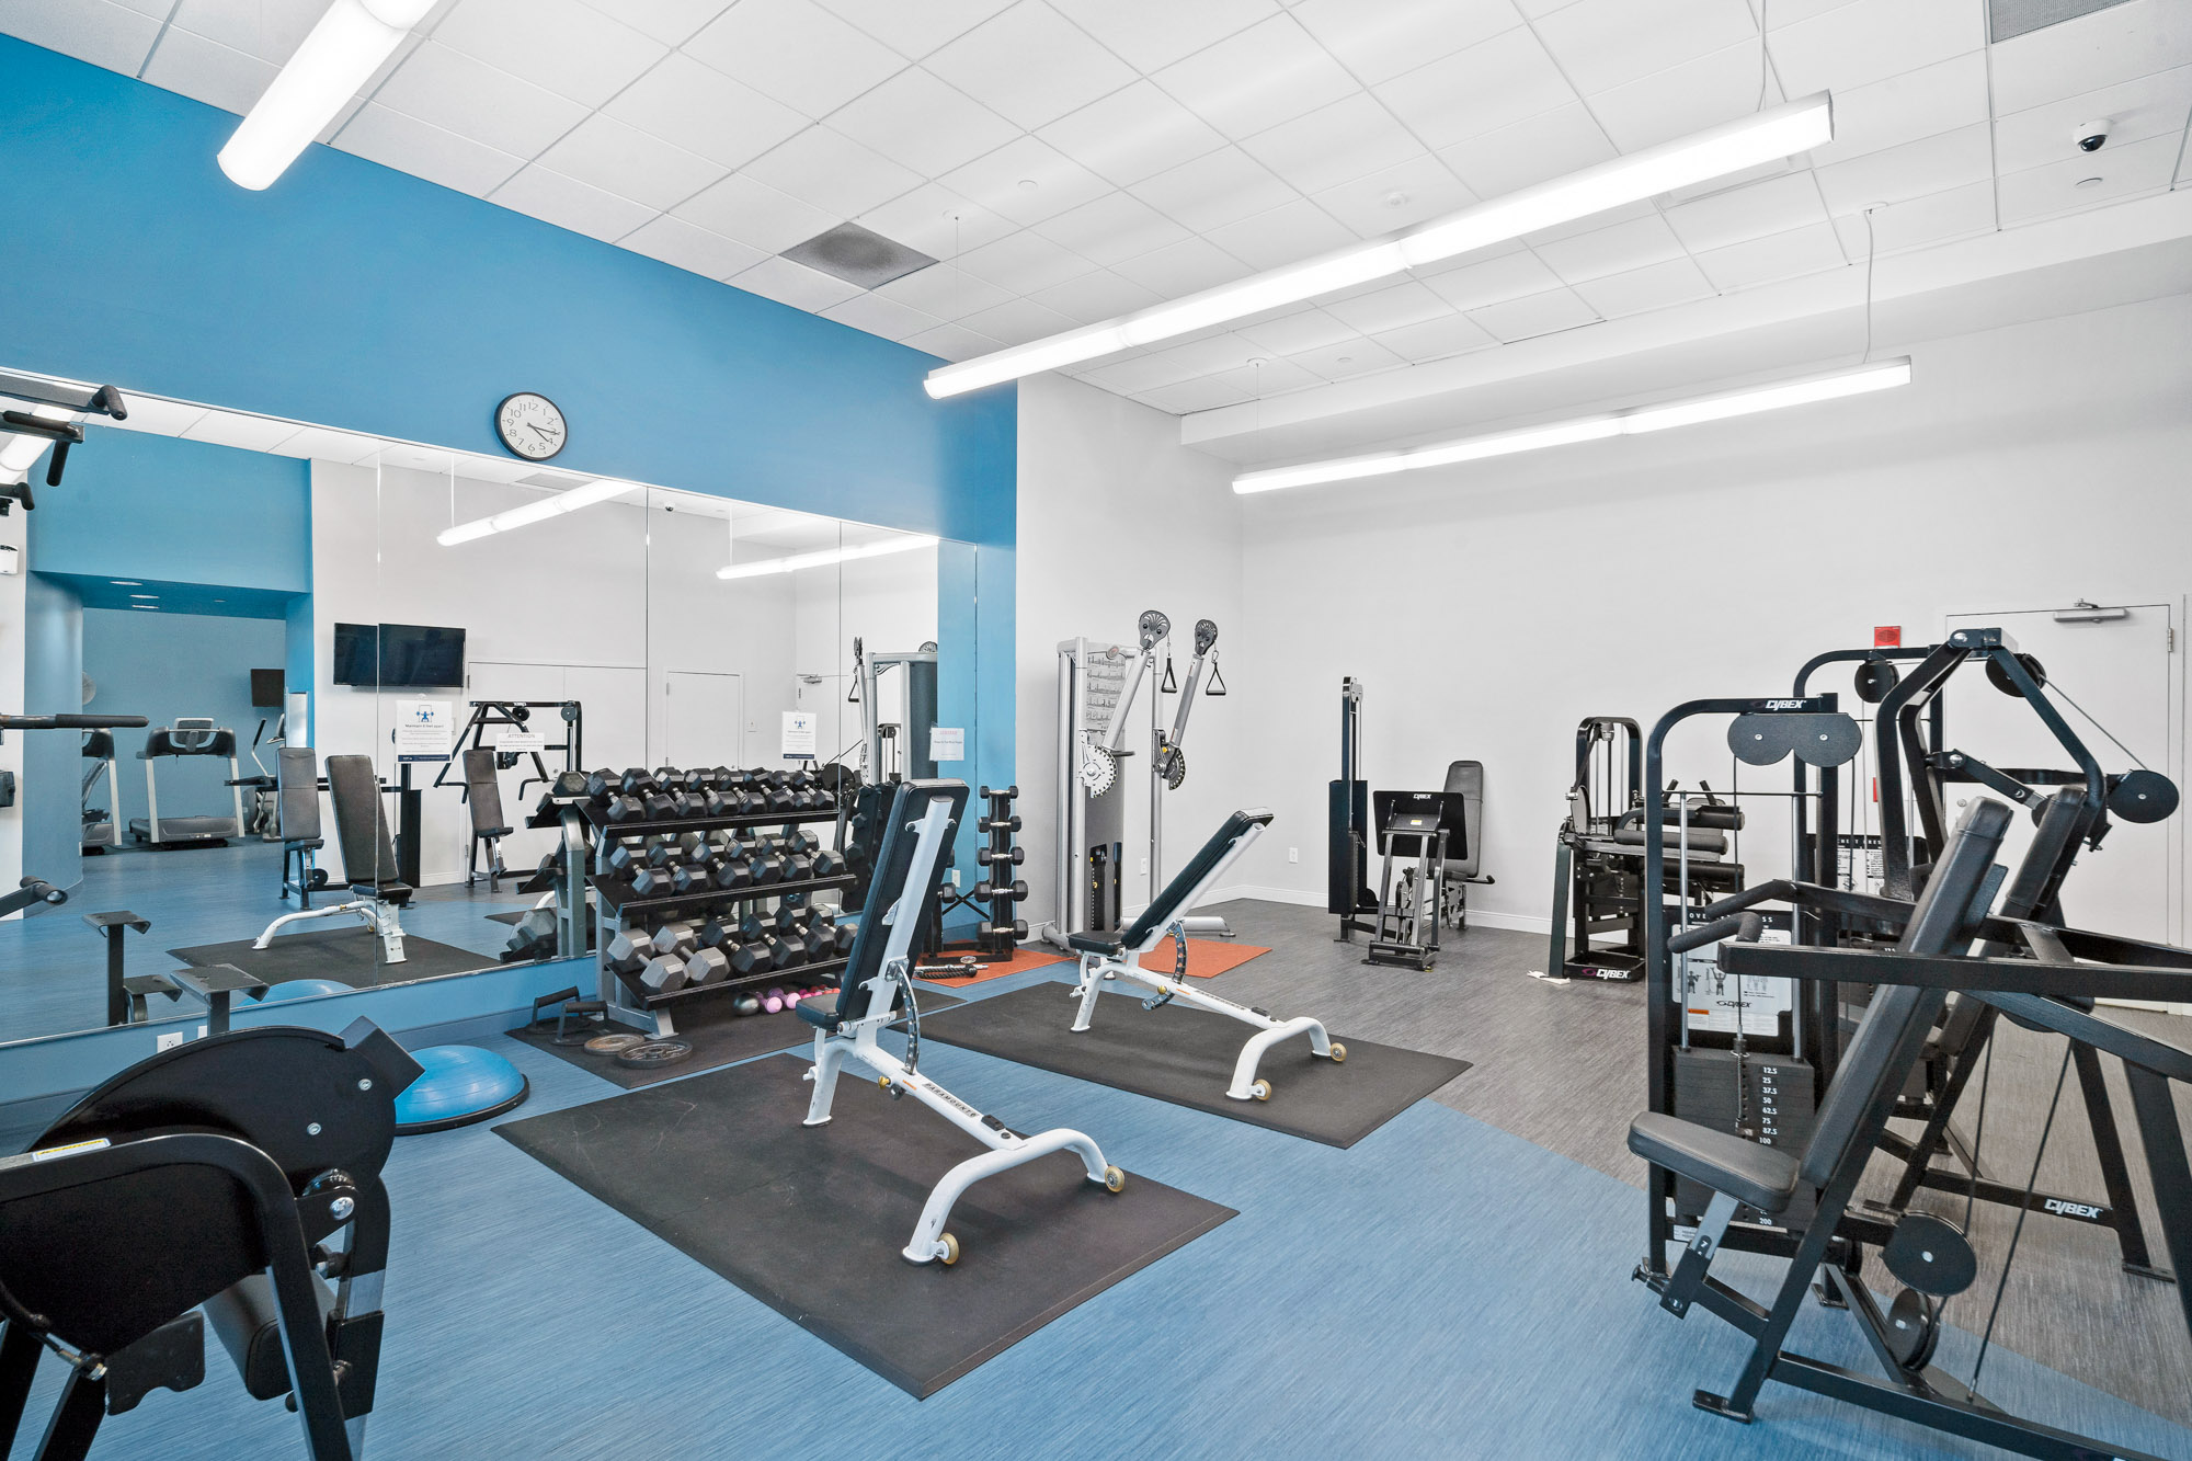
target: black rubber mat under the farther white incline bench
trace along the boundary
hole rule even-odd
[[[1469,1068],[1466,1060],[1348,1040],[1337,1031],[1333,1038],[1348,1046],[1348,1057],[1333,1064],[1309,1053],[1306,1035],[1295,1035],[1265,1051],[1256,1066],[1256,1075],[1271,1081],[1271,1099],[1234,1101],[1225,1086],[1254,1027],[1186,1005],[1142,1009],[1140,998],[1105,992],[1094,1022],[1076,1035],[1074,998],[1074,985],[1028,985],[971,1000],[936,1016],[934,1024],[923,1016],[921,1033],[1333,1147],[1352,1147]],[[1295,1013],[1309,1011],[1274,1011],[1278,1018]]]

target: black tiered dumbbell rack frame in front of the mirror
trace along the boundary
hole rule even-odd
[[[677,1033],[677,1024],[671,1016],[669,1005],[688,998],[704,998],[710,994],[726,994],[739,989],[752,989],[763,985],[780,985],[787,978],[807,978],[809,974],[835,974],[846,965],[844,959],[818,959],[813,963],[800,963],[789,970],[769,970],[767,974],[734,974],[715,985],[686,985],[684,989],[671,989],[669,994],[638,994],[627,985],[616,970],[609,967],[609,937],[616,926],[633,915],[642,913],[675,913],[682,908],[730,908],[737,904],[765,904],[778,897],[789,897],[796,893],[822,893],[829,888],[850,886],[853,873],[831,873],[829,877],[802,877],[798,882],[765,882],[747,888],[704,888],[697,893],[655,893],[638,895],[631,884],[614,877],[607,867],[609,847],[625,838],[647,838],[647,836],[680,836],[686,831],[726,831],[743,827],[780,827],[791,831],[804,823],[842,823],[844,801],[835,807],[818,807],[813,812],[741,812],[737,816],[664,816],[660,820],[625,820],[612,823],[607,809],[594,803],[583,803],[585,820],[594,829],[594,871],[587,875],[587,884],[594,888],[594,972],[601,981],[601,1003],[609,1020],[618,1024],[629,1024],[631,1029],[644,1033],[649,1040],[669,1040]],[[835,838],[844,842],[844,836]]]

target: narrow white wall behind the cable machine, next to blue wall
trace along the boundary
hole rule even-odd
[[[1017,761],[1030,926],[1052,910],[1059,641],[1085,634],[1131,645],[1142,610],[1164,610],[1186,680],[1195,621],[1219,625],[1230,693],[1197,704],[1188,722],[1188,779],[1164,801],[1166,869],[1179,871],[1228,812],[1267,801],[1241,757],[1256,733],[1252,706],[1274,700],[1258,700],[1258,656],[1243,625],[1241,507],[1230,478],[1225,463],[1179,445],[1175,417],[1076,380],[1019,382]],[[1135,873],[1149,845],[1146,695],[1144,687],[1129,741],[1142,755],[1109,792],[1129,799],[1129,908],[1149,902]],[[1276,702],[1293,695],[1276,693]],[[1166,724],[1175,704],[1166,698]]]

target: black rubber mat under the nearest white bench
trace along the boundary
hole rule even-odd
[[[1236,1215],[1131,1174],[1109,1193],[1054,1152],[958,1200],[958,1264],[907,1264],[929,1187],[982,1147],[855,1071],[800,1125],[804,1071],[756,1060],[495,1130],[916,1397]]]

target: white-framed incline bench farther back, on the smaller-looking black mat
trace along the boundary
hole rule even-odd
[[[1335,1042],[1320,1020],[1309,1016],[1295,1016],[1293,1020],[1274,1020],[1260,1009],[1249,1009],[1247,1005],[1234,1005],[1232,1000],[1221,1000],[1206,989],[1197,989],[1188,983],[1188,932],[1184,921],[1188,910],[1201,902],[1219,884],[1219,877],[1254,847],[1263,829],[1271,825],[1271,814],[1263,807],[1247,812],[1234,812],[1225,818],[1195,860],[1188,862],[1179,873],[1164,884],[1164,893],[1142,910],[1127,930],[1107,939],[1103,935],[1070,935],[1065,943],[1081,954],[1081,987],[1074,992],[1081,1000],[1078,1013],[1074,1013],[1074,1033],[1089,1027],[1096,1018],[1096,998],[1103,994],[1103,983],[1107,978],[1127,978],[1138,985],[1153,989],[1151,998],[1142,1000],[1142,1009],[1157,1009],[1173,1000],[1192,1005],[1195,1009],[1208,1009],[1212,1013],[1241,1020],[1243,1024],[1254,1024],[1256,1033],[1249,1035],[1247,1044],[1241,1046],[1241,1057],[1234,1062],[1232,1086],[1225,1088],[1236,1101],[1269,1101],[1271,1081],[1256,1075],[1256,1064],[1263,1053],[1278,1044],[1280,1040],[1291,1040],[1293,1035],[1309,1035],[1309,1049],[1331,1062],[1344,1062],[1348,1057],[1348,1046]],[[1175,935],[1177,961],[1171,974],[1157,974],[1142,967],[1142,954],[1157,948],[1164,935]]]

